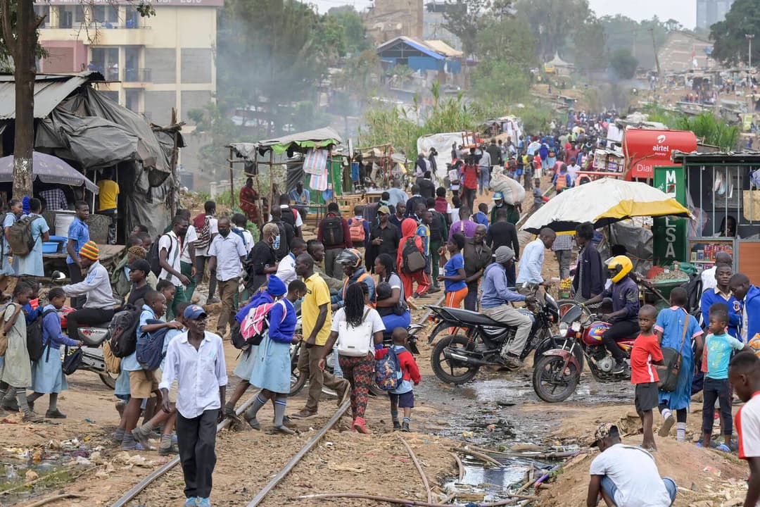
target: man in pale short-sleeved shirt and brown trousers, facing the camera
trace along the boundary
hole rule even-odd
[[[211,241],[208,265],[217,270],[219,297],[222,299],[222,311],[217,322],[217,334],[223,336],[227,323],[235,315],[235,296],[238,293],[240,268],[245,261],[245,245],[237,234],[232,234],[232,223],[227,217],[219,219],[219,236]]]

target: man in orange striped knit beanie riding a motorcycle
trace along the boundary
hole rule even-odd
[[[85,296],[84,306],[81,310],[68,314],[68,335],[76,336],[77,328],[82,324],[105,324],[113,318],[113,299],[111,280],[108,271],[98,261],[97,245],[94,241],[88,241],[79,250],[79,262],[84,272],[84,280],[78,284],[64,285],[62,287],[66,296]]]

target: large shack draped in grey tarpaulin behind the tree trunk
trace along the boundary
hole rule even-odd
[[[176,161],[184,146],[181,124],[165,128],[119,106],[91,86],[96,71],[37,74],[34,84],[34,149],[66,160],[96,181],[112,168],[119,182],[122,230],[135,224],[151,235],[163,232],[179,204]],[[0,124],[4,154],[13,153],[15,83],[0,74]]]

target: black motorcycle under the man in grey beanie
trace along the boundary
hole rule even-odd
[[[536,350],[534,357],[539,357],[544,351],[557,346],[552,341],[552,325],[559,321],[559,306],[548,293],[543,302],[537,300],[534,304],[534,311],[518,309],[533,322],[525,347],[520,353],[521,361],[533,350]],[[432,311],[432,318],[439,322],[430,334],[428,343],[432,343],[442,329],[454,328],[451,334],[433,347],[430,362],[435,376],[443,382],[458,385],[472,380],[481,366],[504,366],[502,347],[515,338],[515,326],[497,322],[487,315],[470,310],[448,306],[428,308]],[[459,331],[465,334],[460,334]],[[541,348],[537,348],[539,346]]]

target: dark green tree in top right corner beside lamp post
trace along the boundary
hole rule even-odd
[[[710,39],[714,40],[712,57],[720,62],[733,65],[747,62],[749,43],[746,34],[760,35],[760,17],[757,0],[736,0],[731,5],[724,21],[710,27]],[[758,60],[758,46],[752,45],[752,60]]]

